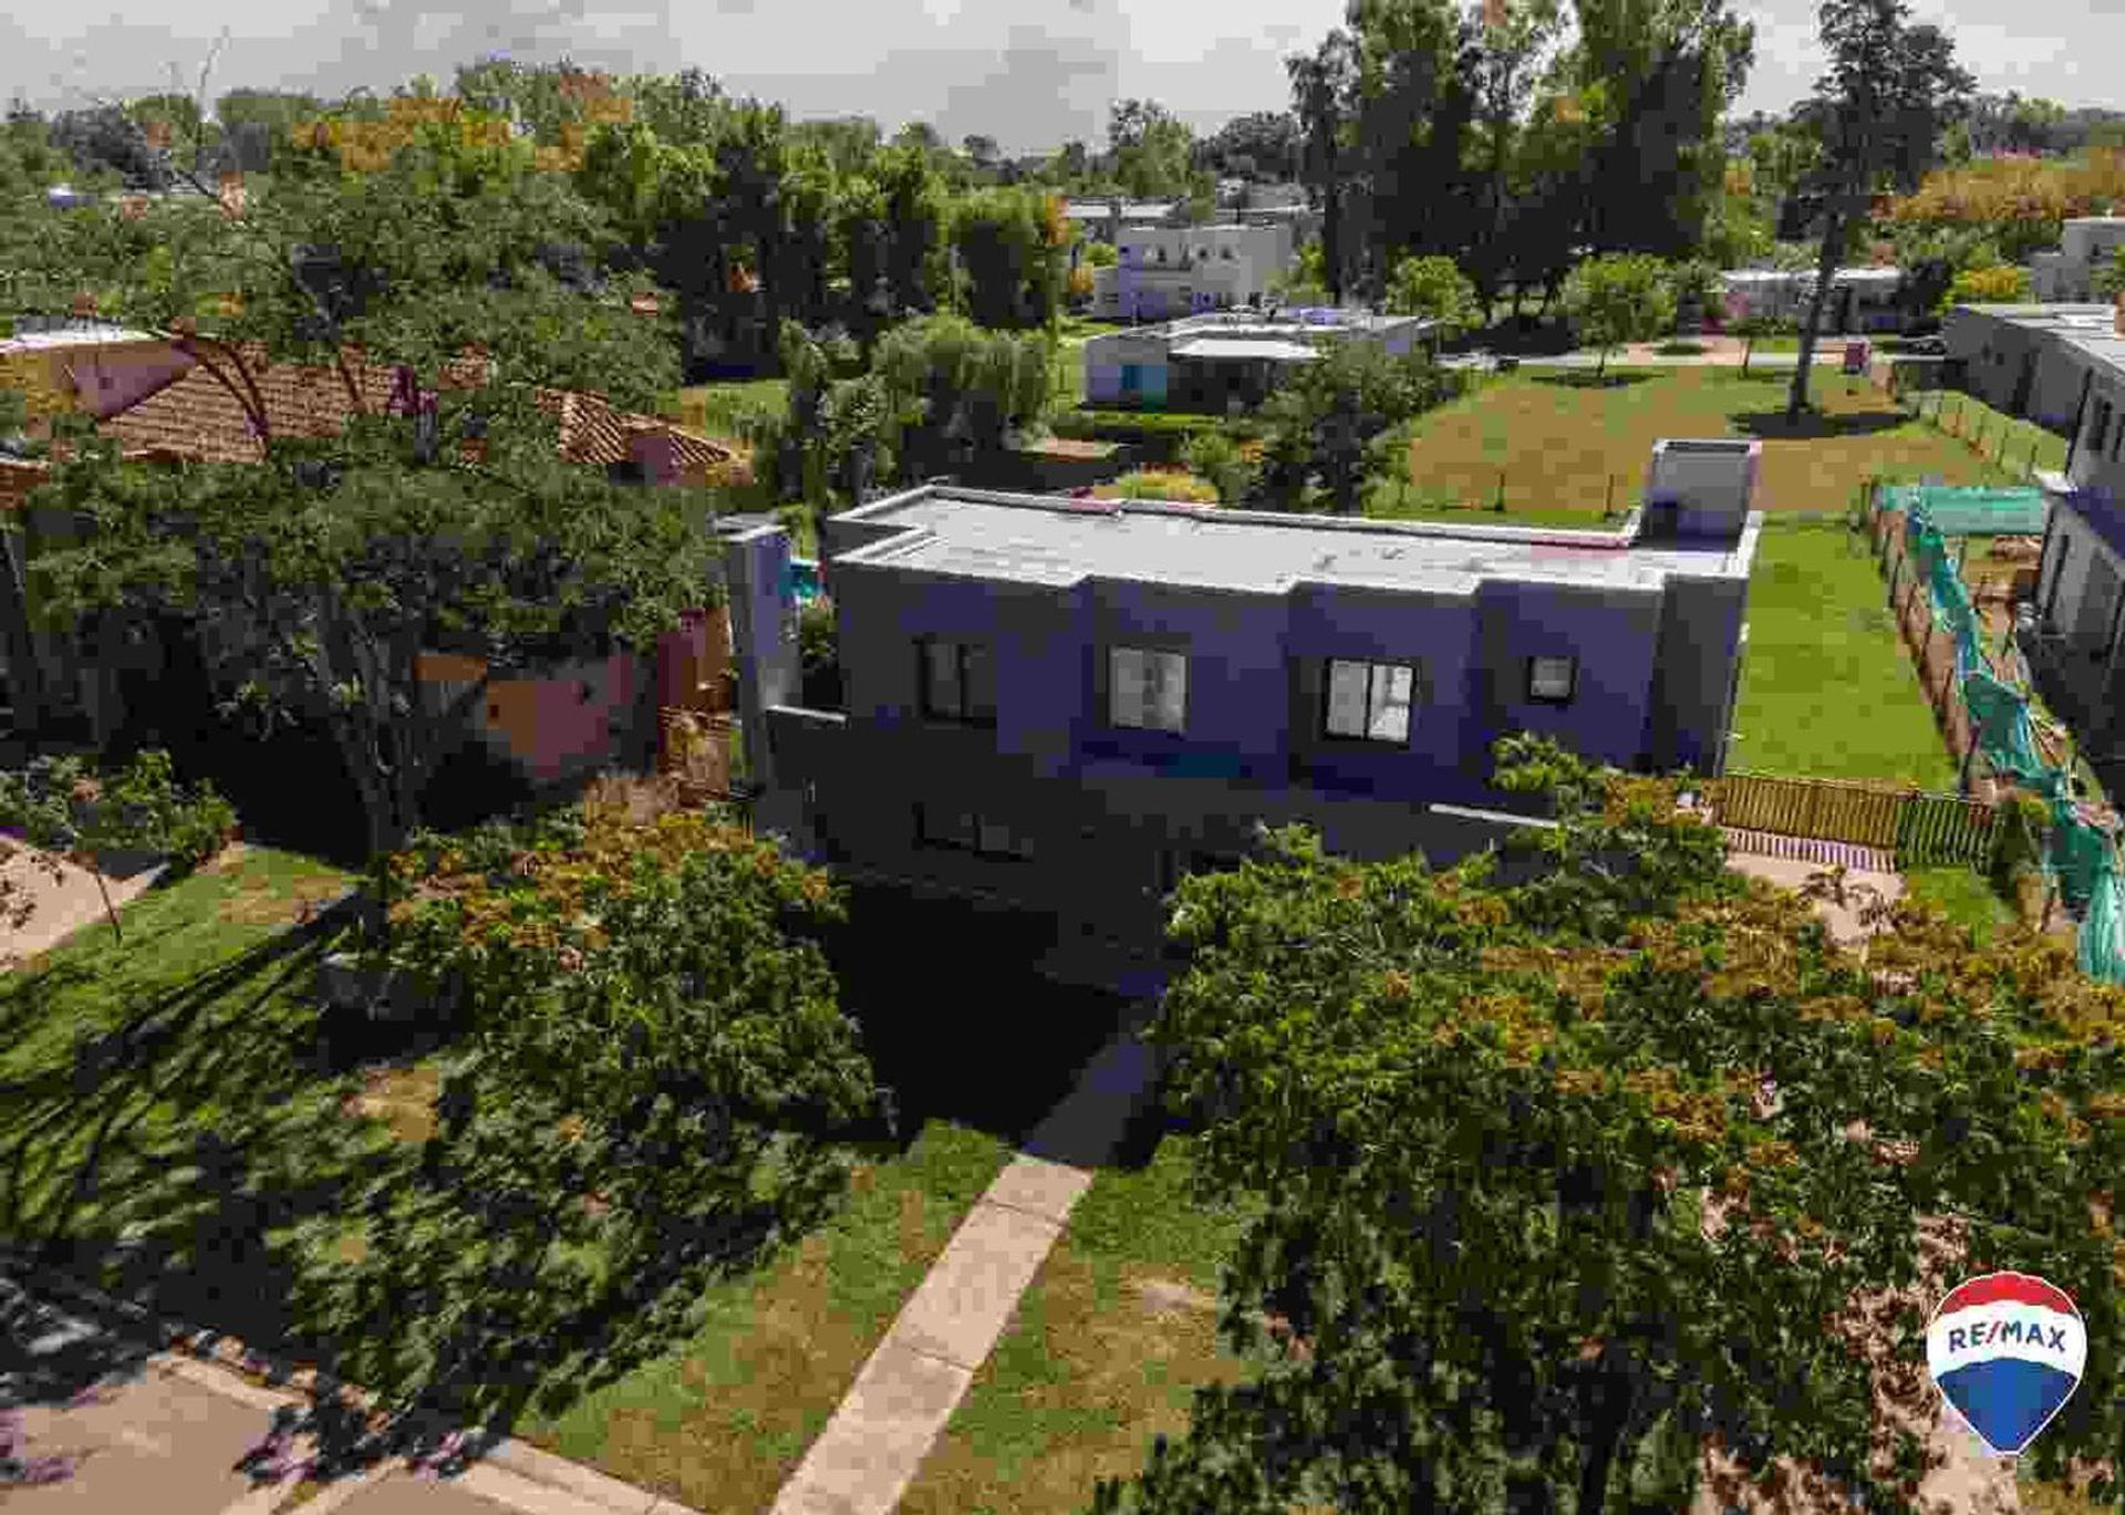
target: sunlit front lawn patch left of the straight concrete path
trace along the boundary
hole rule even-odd
[[[1007,1156],[931,1122],[831,1224],[710,1290],[684,1347],[516,1432],[691,1509],[767,1509]]]

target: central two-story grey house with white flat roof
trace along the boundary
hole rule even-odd
[[[842,710],[797,703],[788,538],[737,533],[759,824],[1152,963],[1177,875],[1258,820],[1371,858],[1502,837],[1502,733],[1717,771],[1760,446],[1662,442],[1619,531],[912,489],[827,523]]]

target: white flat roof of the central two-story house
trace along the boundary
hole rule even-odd
[[[1762,525],[1751,514],[1728,546],[1638,546],[1634,521],[1626,531],[1462,527],[952,484],[924,484],[839,518],[905,527],[842,563],[1050,589],[1109,578],[1281,595],[1324,582],[1458,597],[1485,580],[1658,593],[1670,576],[1747,578]]]

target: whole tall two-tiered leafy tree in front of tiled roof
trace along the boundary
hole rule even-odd
[[[172,470],[79,444],[47,499],[91,535],[38,555],[45,610],[83,629],[196,623],[232,701],[329,729],[376,848],[419,820],[487,680],[648,648],[710,593],[697,501],[565,467],[540,406],[542,389],[627,408],[672,389],[669,334],[629,304],[646,280],[557,276],[552,244],[595,244],[604,219],[527,161],[531,144],[446,104],[321,123],[240,215],[42,217],[15,238],[6,291],[49,310],[87,287],[98,310],[166,336],[242,406],[266,457]],[[484,361],[465,363],[470,348]],[[276,359],[340,374],[344,436],[276,436],[259,382]],[[391,402],[363,361],[397,372]],[[427,650],[476,652],[487,671],[436,710],[416,676]]]

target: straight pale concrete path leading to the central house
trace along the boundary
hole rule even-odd
[[[1124,1028],[946,1243],[848,1398],[782,1485],[774,1515],[888,1515],[952,1419],[1033,1275],[1156,1084]]]

